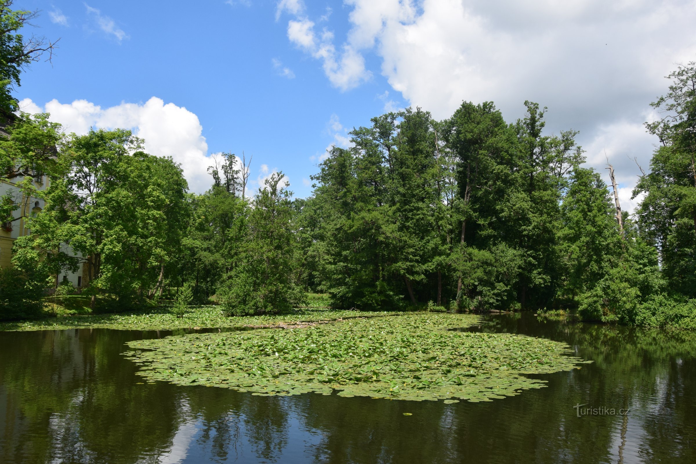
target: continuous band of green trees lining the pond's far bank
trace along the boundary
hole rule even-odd
[[[26,12],[8,11],[17,31]],[[5,74],[9,95],[19,72]],[[358,310],[577,308],[696,328],[696,63],[669,78],[632,216],[585,166],[577,132],[546,134],[533,102],[512,123],[492,102],[440,121],[422,109],[372,118],[319,163],[312,195],[292,198],[282,173],[248,192],[248,163],[231,153],[209,169],[208,191],[189,193],[180,166],[129,131],[64,134],[5,98],[1,177],[45,207],[0,274],[0,311],[26,317],[56,275],[85,266],[95,310],[184,295],[259,314],[311,291]],[[45,191],[31,182],[40,175]],[[0,219],[17,221],[17,202],[1,200]]]

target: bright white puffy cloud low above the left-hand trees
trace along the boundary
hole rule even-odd
[[[19,102],[19,107],[29,113],[51,113],[51,120],[78,135],[87,134],[90,127],[132,129],[136,136],[145,139],[148,153],[171,156],[181,164],[191,191],[201,193],[212,183],[207,173],[212,160],[206,156],[208,147],[202,135],[203,127],[198,116],[182,106],[164,104],[163,100],[152,97],[145,104],[122,103],[106,109],[86,100],[66,104],[56,99],[42,109],[28,98]]]

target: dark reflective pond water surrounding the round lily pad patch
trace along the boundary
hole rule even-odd
[[[0,463],[696,463],[695,335],[528,313],[475,330],[594,363],[484,403],[255,397],[142,383],[123,344],[171,332],[0,333]]]

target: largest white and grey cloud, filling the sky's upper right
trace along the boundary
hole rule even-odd
[[[646,167],[653,150],[644,110],[665,93],[663,77],[674,63],[696,57],[696,3],[689,1],[344,3],[349,31],[342,45],[303,10],[288,24],[290,41],[324,60],[340,90],[365,81],[363,56],[374,54],[393,90],[436,118],[463,100],[492,100],[514,120],[525,99],[539,102],[549,107],[547,129],[580,130],[590,164],[601,170],[606,150],[626,189],[639,173],[628,157]]]

